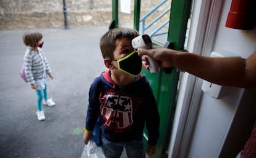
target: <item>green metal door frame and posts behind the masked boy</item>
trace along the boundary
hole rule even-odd
[[[112,2],[112,17],[115,22],[115,27],[119,27],[118,0],[113,0]],[[192,0],[172,0],[167,41],[173,42],[174,50],[184,49],[191,2]],[[139,25],[140,0],[134,0],[134,29],[139,31]],[[159,45],[158,42],[154,42],[154,44]],[[164,157],[164,154],[168,150],[173,117],[176,109],[177,84],[179,82],[179,71],[177,71],[176,68],[170,69],[171,71],[169,71],[169,73],[165,73],[166,71],[161,68],[158,74],[150,74],[146,69],[142,70],[142,74],[147,76],[153,89],[161,117],[160,138],[157,144],[158,148],[156,154],[150,157]],[[147,136],[147,130],[144,130],[144,132]]]

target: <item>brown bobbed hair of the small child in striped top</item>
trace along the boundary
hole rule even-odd
[[[29,47],[37,47],[38,42],[43,38],[43,35],[41,33],[35,32],[27,32],[23,34],[23,43]]]

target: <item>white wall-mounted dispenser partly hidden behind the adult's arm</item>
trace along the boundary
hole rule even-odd
[[[223,57],[239,57],[239,55],[236,55],[232,52],[228,52],[226,50],[220,50],[217,52],[212,52],[210,57],[218,57],[218,58],[223,58]],[[230,87],[227,86],[222,86],[218,84],[213,84],[208,81],[203,81],[202,85],[202,91],[206,93],[207,95],[210,95],[210,97],[220,99],[223,98],[224,96],[228,95]]]

